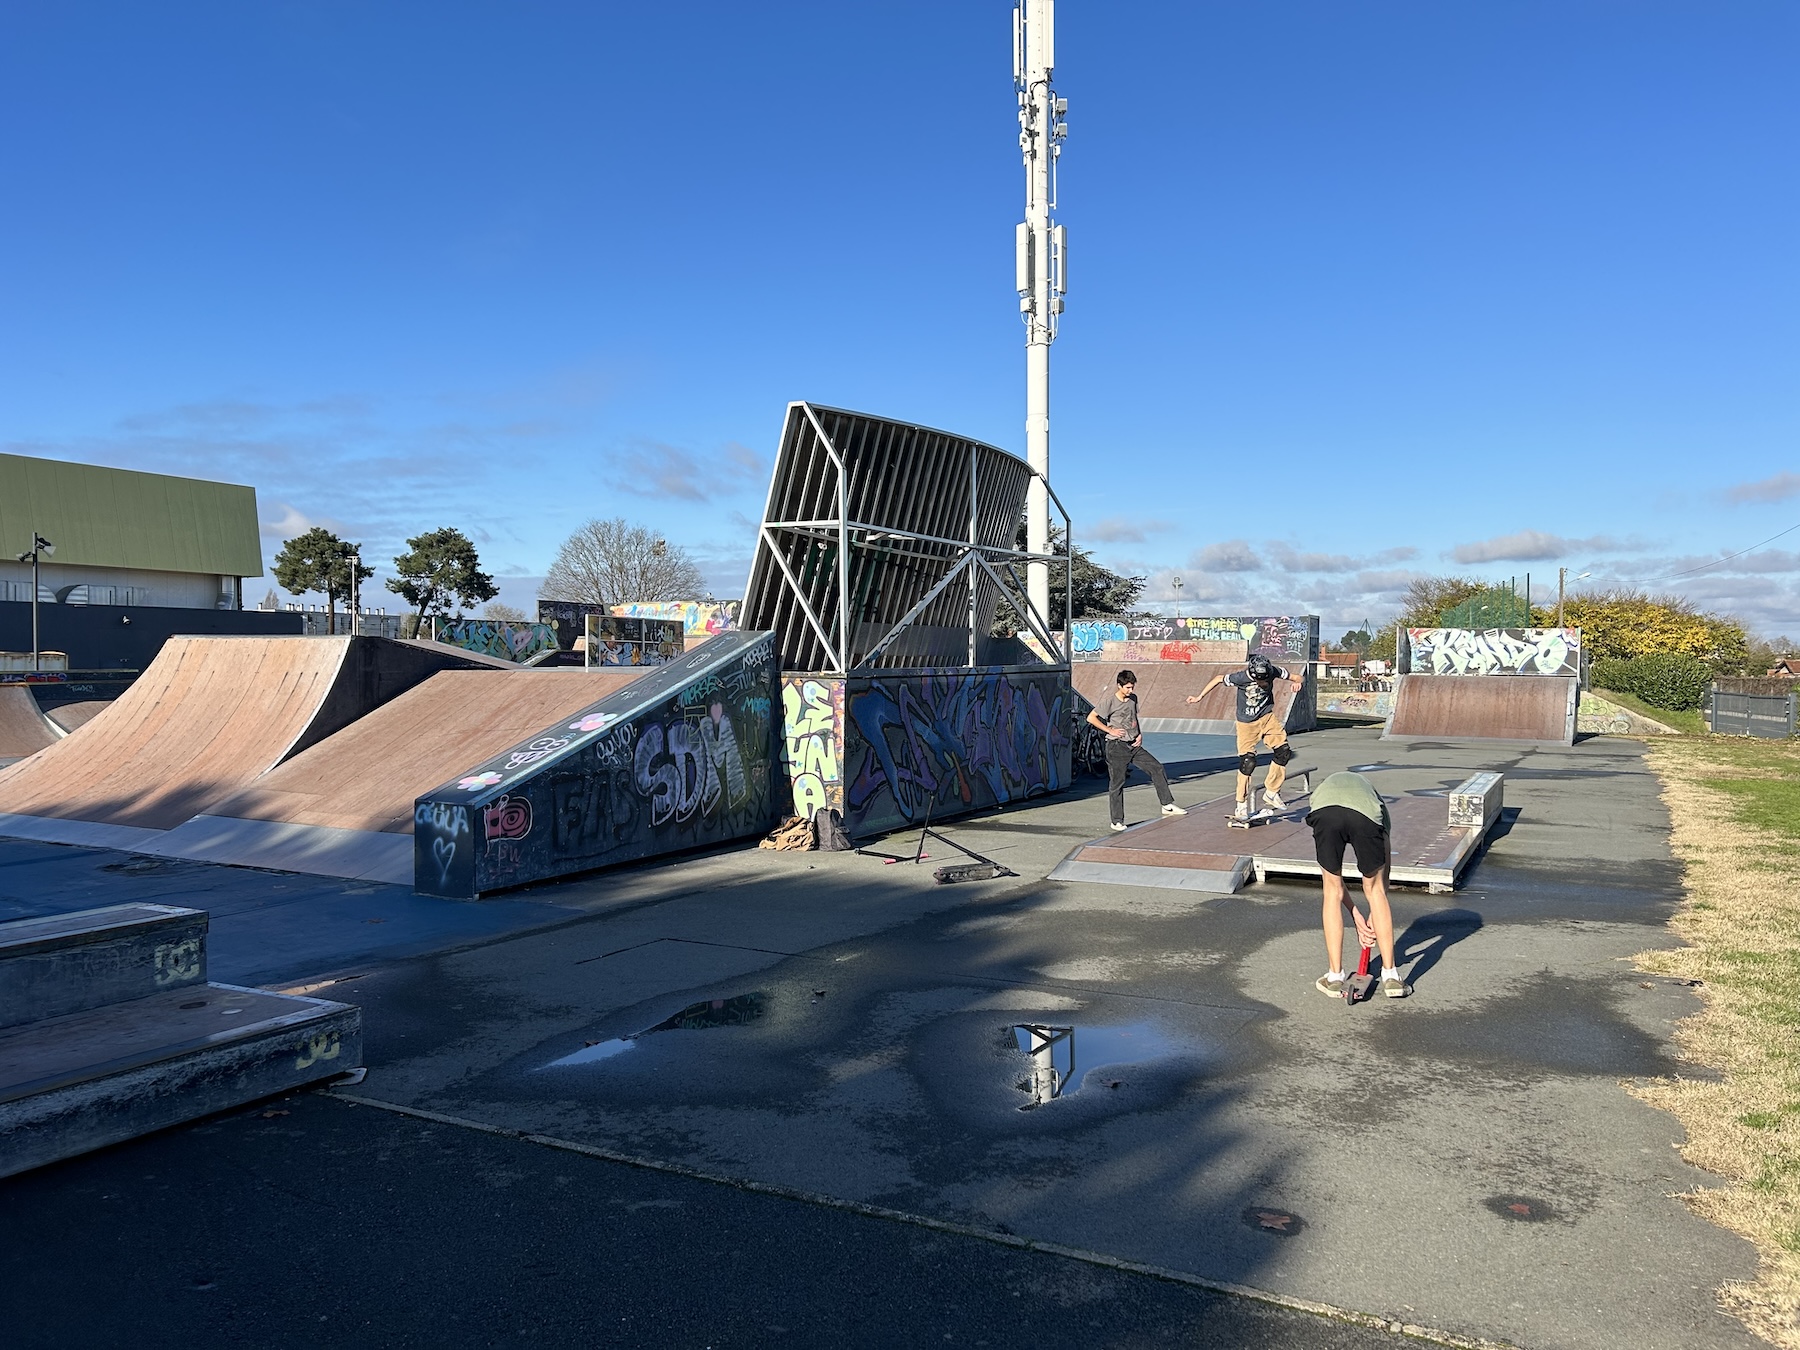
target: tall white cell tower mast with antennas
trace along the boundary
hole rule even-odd
[[[1053,225],[1057,160],[1069,133],[1069,101],[1051,88],[1057,65],[1057,0],[1019,0],[1013,9],[1013,86],[1019,92],[1019,149],[1024,153],[1024,221],[1015,230],[1013,279],[1026,326],[1024,454],[1042,477],[1026,495],[1026,547],[1049,553],[1049,344],[1069,283],[1067,236]],[[1049,563],[1026,565],[1031,607],[1051,623]],[[1067,619],[1067,616],[1064,616]]]

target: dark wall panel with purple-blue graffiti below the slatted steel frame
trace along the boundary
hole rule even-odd
[[[848,680],[844,821],[868,835],[1060,792],[1071,776],[1064,670],[976,666]]]

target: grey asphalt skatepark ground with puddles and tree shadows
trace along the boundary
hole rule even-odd
[[[778,1287],[790,1291],[783,1305],[805,1309],[805,1321],[788,1314],[752,1323],[761,1316],[751,1309],[760,1294],[738,1289],[736,1278],[729,1289],[702,1294],[704,1282],[673,1273],[679,1262],[657,1264],[668,1274],[652,1278],[641,1294],[616,1294],[644,1300],[643,1316],[664,1309],[666,1325],[697,1318],[698,1343],[731,1343],[709,1341],[715,1327],[718,1336],[749,1337],[738,1343],[787,1336],[758,1330],[770,1325],[801,1327],[794,1332],[801,1343],[835,1336],[830,1328],[842,1323],[832,1319],[860,1316],[851,1305],[878,1298],[882,1282],[848,1280],[842,1262],[826,1262],[812,1238],[792,1244],[815,1226],[839,1231],[833,1226],[850,1224],[842,1240],[851,1264],[882,1271],[893,1282],[895,1307],[943,1305],[965,1318],[934,1332],[934,1343],[967,1334],[992,1345],[1039,1345],[1064,1328],[1084,1345],[1157,1343],[1093,1339],[1094,1328],[1053,1300],[1039,1305],[1037,1318],[1017,1316],[1017,1307],[1006,1309],[1015,1300],[1004,1280],[979,1283],[988,1260],[1046,1260],[1078,1267],[1080,1280],[1118,1280],[1103,1305],[1159,1309],[1147,1314],[1150,1321],[1111,1323],[1121,1337],[1166,1332],[1174,1343],[1336,1345],[1316,1337],[1354,1330],[1260,1305],[1255,1316],[1273,1321],[1208,1327],[1204,1318],[1249,1318],[1251,1310],[1222,1312],[1237,1300],[1127,1271],[1098,1274],[1105,1267],[967,1237],[990,1233],[999,1242],[1060,1244],[1379,1312],[1449,1336],[1532,1346],[1750,1345],[1717,1312],[1714,1289],[1748,1274],[1753,1253],[1672,1199],[1708,1179],[1678,1159],[1674,1121],[1620,1089],[1620,1080],[1634,1076],[1697,1073],[1670,1051],[1670,1026],[1694,1010],[1692,992],[1676,981],[1645,981],[1629,963],[1633,952],[1672,941],[1665,920],[1679,895],[1667,817],[1642,747],[1622,740],[1548,751],[1395,745],[1370,731],[1314,733],[1296,745],[1296,769],[1377,765],[1372,772],[1388,794],[1444,792],[1474,769],[1508,776],[1507,817],[1463,889],[1397,893],[1413,999],[1348,1010],[1312,990],[1323,968],[1316,887],[1271,882],[1237,896],[1206,896],[1046,882],[1064,853],[1103,828],[1103,783],[1093,779],[1064,797],[947,828],[1021,873],[994,882],[943,887],[931,882],[931,868],[857,855],[720,851],[535,887],[500,902],[517,907],[500,920],[490,918],[499,911],[481,914],[475,905],[479,922],[459,920],[463,929],[450,936],[434,936],[430,911],[418,911],[421,927],[400,943],[355,932],[371,916],[358,916],[351,904],[398,909],[400,896],[288,898],[274,907],[288,913],[286,929],[302,934],[304,950],[256,956],[247,929],[236,929],[220,943],[225,959],[261,961],[266,983],[337,976],[320,994],[365,1012],[371,1071],[355,1093],[470,1121],[432,1123],[423,1138],[434,1141],[437,1152],[427,1150],[434,1157],[473,1154],[434,1170],[419,1161],[419,1136],[409,1134],[427,1129],[419,1121],[311,1098],[266,1125],[252,1114],[175,1130],[0,1183],[0,1208],[27,1206],[18,1210],[27,1224],[7,1222],[0,1235],[7,1285],[36,1300],[38,1287],[61,1282],[63,1300],[81,1303],[106,1287],[94,1283],[97,1274],[88,1292],[68,1287],[81,1276],[56,1274],[63,1267],[54,1246],[7,1237],[31,1224],[54,1233],[65,1220],[49,1215],[65,1208],[94,1213],[81,1188],[106,1193],[108,1183],[86,1181],[85,1170],[119,1175],[110,1193],[122,1197],[122,1220],[104,1231],[124,1233],[115,1240],[140,1253],[137,1260],[151,1271],[146,1278],[173,1282],[171,1289],[180,1278],[193,1283],[175,1269],[182,1244],[220,1229],[207,1219],[216,1206],[185,1202],[178,1210],[185,1222],[157,1226],[155,1177],[176,1192],[239,1184],[247,1193],[247,1177],[263,1177],[256,1193],[265,1199],[247,1201],[238,1213],[272,1231],[311,1220],[320,1251],[342,1246],[337,1274],[328,1274],[337,1269],[329,1260],[301,1264],[295,1283],[326,1291],[324,1301],[353,1300],[374,1328],[365,1343],[407,1343],[394,1339],[405,1332],[383,1330],[387,1314],[369,1301],[376,1292],[394,1307],[414,1307],[410,1291],[434,1289],[418,1307],[437,1309],[439,1321],[448,1312],[475,1316],[459,1300],[493,1303],[491,1314],[481,1314],[493,1319],[472,1327],[472,1336],[515,1337],[504,1343],[520,1343],[517,1327],[506,1330],[508,1316],[554,1305],[542,1314],[553,1319],[547,1330],[527,1330],[527,1343],[529,1336],[556,1343],[576,1325],[571,1318],[594,1316],[592,1291],[556,1278],[531,1298],[524,1289],[535,1285],[518,1280],[506,1285],[506,1296],[495,1294],[493,1244],[509,1231],[506,1206],[497,1210],[502,1219],[490,1220],[472,1197],[508,1186],[450,1183],[452,1175],[499,1175],[497,1163],[481,1161],[488,1157],[481,1150],[499,1148],[508,1159],[556,1156],[551,1166],[581,1177],[580,1184],[614,1184],[603,1177],[617,1174],[707,1188],[711,1208],[693,1201],[691,1210],[668,1215],[680,1249],[711,1253],[715,1229],[742,1231],[733,1224],[743,1213],[785,1206],[779,1213],[790,1217],[770,1220],[767,1237],[749,1244],[761,1244],[756,1258],[740,1260],[756,1265],[767,1256]],[[1211,772],[1211,763],[1188,765],[1179,778],[1181,801],[1229,792],[1229,770]],[[1150,790],[1134,787],[1129,805],[1139,815],[1154,810]],[[38,851],[0,850],[0,869],[16,862],[14,877],[63,868],[90,887],[83,895],[108,900],[151,898],[131,893],[151,882],[162,898],[182,893],[180,875],[133,873],[117,855],[99,862],[18,848]],[[112,880],[95,880],[101,875]],[[257,886],[297,886],[241,869],[202,869],[193,880],[200,891],[245,891],[241,914],[256,913],[248,893]],[[13,891],[11,882],[0,887]],[[490,922],[499,931],[481,932]],[[682,1017],[715,1001],[716,1015],[702,1008]],[[686,1024],[662,1026],[671,1021]],[[1021,1107],[1031,1093],[1022,1085],[1033,1075],[1017,1048],[1021,1024],[1073,1028],[1064,1094],[1028,1111]],[[356,1125],[340,1127],[313,1111]],[[313,1132],[315,1143],[338,1141],[311,1147],[284,1136],[288,1127]],[[922,1242],[922,1229],[830,1204],[634,1172],[477,1127],[918,1215],[949,1224],[954,1231],[936,1231],[931,1242],[956,1251],[949,1260],[898,1264],[884,1244]],[[331,1136],[338,1129],[367,1134],[358,1145]],[[223,1147],[205,1130],[241,1134]],[[137,1150],[182,1147],[205,1161],[175,1174],[149,1168],[148,1181],[135,1181],[137,1165],[121,1161]],[[243,1150],[241,1163],[230,1161],[236,1150]],[[536,1175],[533,1166],[506,1161],[502,1170]],[[335,1201],[342,1208],[301,1199],[319,1193],[342,1197]],[[445,1199],[455,1195],[466,1202]],[[610,1291],[617,1282],[608,1282],[605,1253],[630,1228],[617,1208],[578,1206],[592,1231],[556,1228],[551,1215],[558,1210],[538,1210],[544,1240],[556,1253],[544,1256],[549,1267],[562,1269],[563,1247],[585,1251],[589,1283],[607,1282]],[[92,1220],[67,1224],[92,1240]],[[502,1242],[506,1251],[545,1251],[527,1226],[520,1219]],[[396,1255],[401,1269],[414,1271],[405,1282],[355,1256],[358,1240],[374,1240],[358,1238],[364,1229],[385,1233],[396,1253],[418,1235],[412,1267]],[[214,1238],[212,1249],[223,1251],[220,1244]],[[171,1256],[151,1255],[164,1249]],[[281,1251],[281,1242],[263,1244],[261,1255],[247,1247],[234,1258],[243,1264],[234,1278],[263,1287],[275,1278]],[[945,1264],[979,1283],[963,1303],[949,1303],[954,1294],[932,1283],[949,1278],[932,1269]],[[272,1269],[254,1274],[261,1265]],[[745,1274],[769,1278],[760,1265]],[[225,1289],[212,1283],[214,1291],[198,1292]],[[364,1285],[376,1292],[365,1294]],[[1199,1301],[1183,1312],[1181,1300]],[[252,1319],[243,1323],[252,1327],[243,1343],[313,1343],[310,1327],[277,1316],[292,1301],[250,1298],[245,1307],[274,1321],[272,1330],[256,1330],[254,1318],[265,1312],[241,1314]],[[329,1307],[320,1305],[320,1314],[329,1318]],[[709,1321],[715,1316],[725,1321]],[[875,1330],[844,1336],[887,1334],[905,1345],[923,1336],[923,1325],[878,1318],[868,1323]],[[643,1336],[643,1325],[630,1334]]]

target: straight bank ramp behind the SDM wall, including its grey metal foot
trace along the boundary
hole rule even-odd
[[[518,666],[432,675],[142,851],[412,886],[416,797],[641,675]]]

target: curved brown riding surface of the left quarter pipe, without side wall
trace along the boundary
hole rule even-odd
[[[0,812],[167,830],[274,767],[331,693],[347,637],[171,637],[79,731],[0,769]]]

